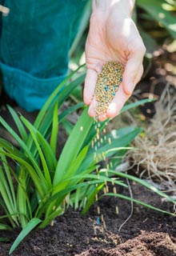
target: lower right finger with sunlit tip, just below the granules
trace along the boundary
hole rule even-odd
[[[121,84],[118,88],[118,92],[115,94],[114,99],[110,102],[110,106],[107,109],[107,118],[114,118],[120,110],[122,110],[122,106],[126,103],[128,98],[129,94],[126,94]]]

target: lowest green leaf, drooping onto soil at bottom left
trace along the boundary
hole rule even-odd
[[[31,230],[34,230],[35,226],[38,226],[40,222],[42,222],[41,219],[32,218],[30,222],[27,223],[26,227],[20,232],[20,234],[18,234],[18,237],[15,239],[13,245],[10,248],[9,254],[13,253],[13,251],[18,247],[20,242],[22,242],[22,240],[26,238],[26,235],[28,235]]]

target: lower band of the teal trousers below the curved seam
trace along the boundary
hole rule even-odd
[[[50,79],[34,78],[22,70],[10,68],[2,63],[0,66],[6,93],[29,112],[40,110],[50,94],[66,78],[66,74]]]

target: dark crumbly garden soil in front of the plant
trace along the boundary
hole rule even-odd
[[[138,184],[131,184],[133,197],[173,212],[173,206],[164,202],[158,195]],[[123,189],[122,194],[129,195]],[[34,230],[18,246],[12,256],[175,256],[175,218],[143,206],[134,204],[131,218],[131,204],[119,198],[102,198],[98,202],[106,222],[106,228],[97,222],[97,206],[91,207],[88,214],[68,209],[66,214],[54,221],[54,226]],[[119,214],[115,213],[118,205]],[[0,231],[0,237],[13,241],[14,233]],[[8,255],[11,242],[0,243],[0,256]]]

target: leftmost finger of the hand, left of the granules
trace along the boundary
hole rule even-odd
[[[97,82],[98,74],[95,70],[88,69],[86,71],[86,79],[84,85],[83,98],[86,105],[90,105],[90,102],[94,96],[94,89]]]

